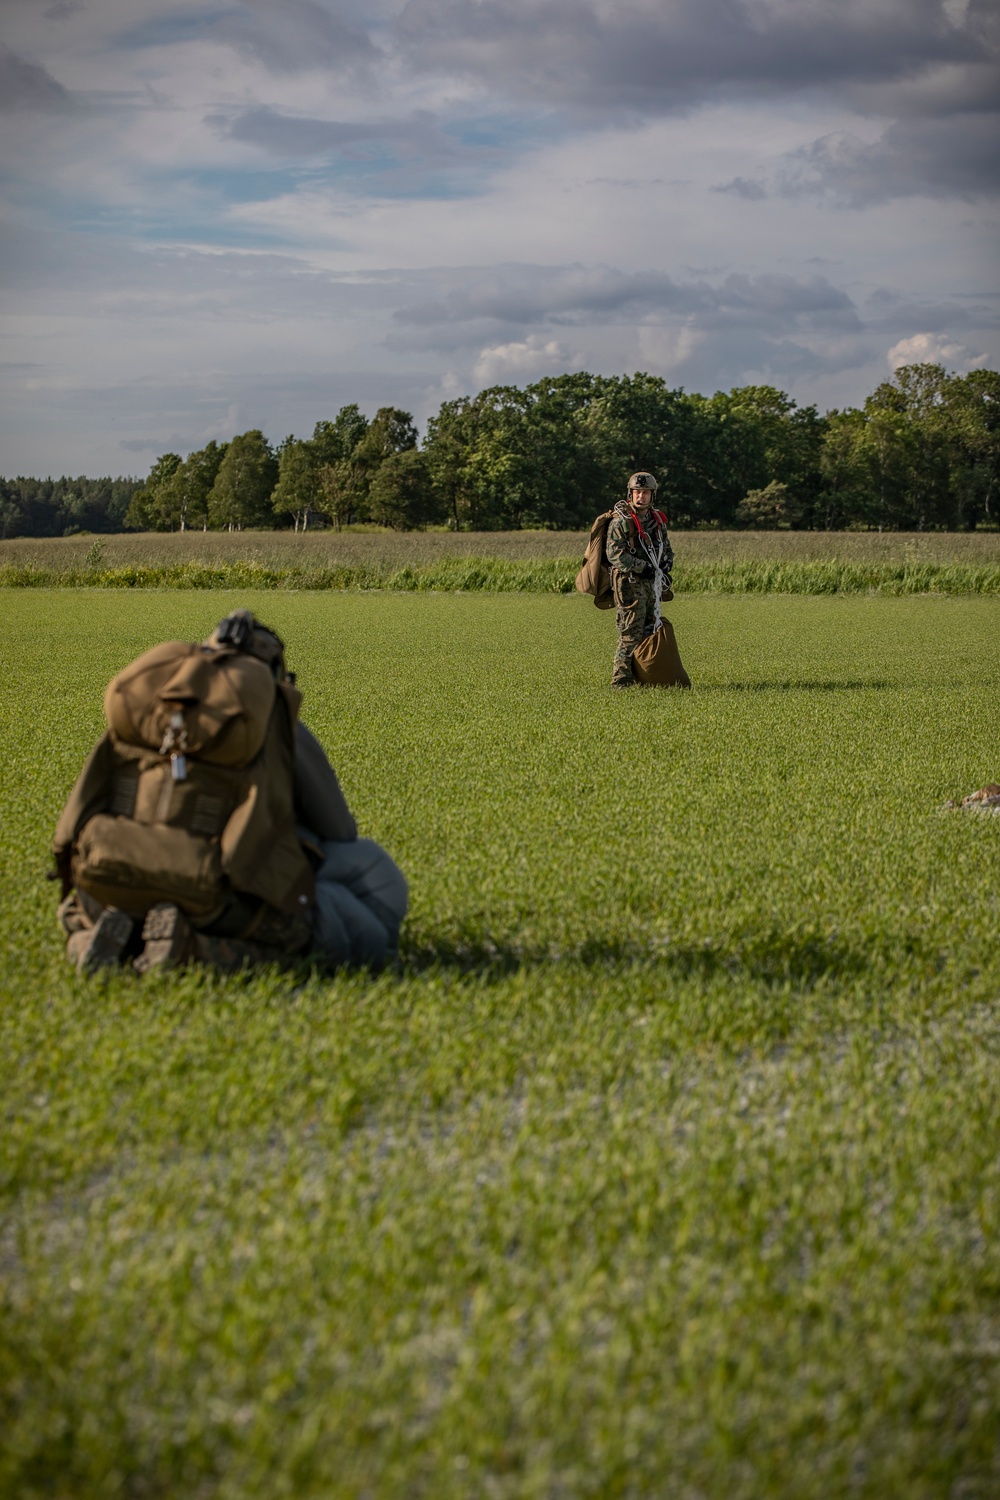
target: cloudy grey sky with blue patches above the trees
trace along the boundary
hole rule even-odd
[[[3,0],[0,474],[1000,364],[997,0]]]

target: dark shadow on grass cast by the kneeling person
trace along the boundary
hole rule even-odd
[[[517,970],[565,964],[574,969],[613,974],[649,970],[658,976],[696,980],[708,984],[720,976],[736,982],[811,988],[820,980],[856,980],[873,968],[874,952],[853,948],[820,933],[754,932],[733,938],[726,945],[670,942],[646,944],[624,939],[589,939],[576,946],[496,944],[483,936],[444,938],[403,942],[399,958],[402,975],[430,969],[501,980]]]

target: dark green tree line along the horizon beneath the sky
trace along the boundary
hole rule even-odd
[[[310,438],[259,429],[163,453],[135,480],[3,480],[3,536],[73,530],[579,528],[639,468],[672,525],[970,530],[1000,524],[1000,372],[907,364],[820,414],[772,386],[714,396],[655,375],[558,375],[409,412],[357,405]],[[48,486],[48,489],[46,489]],[[63,522],[67,522],[61,525]],[[60,532],[61,525],[61,532]]]

